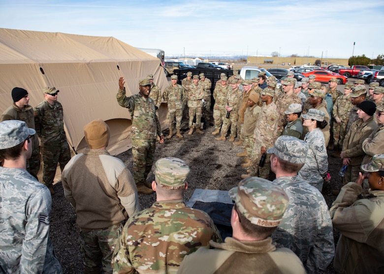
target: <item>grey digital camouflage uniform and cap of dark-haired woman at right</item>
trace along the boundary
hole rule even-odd
[[[308,114],[302,115],[303,119],[314,119],[323,121],[324,112],[311,109]],[[324,141],[324,134],[320,128],[315,128],[304,137],[308,144],[308,153],[304,166],[300,169],[298,176],[309,184],[315,186],[321,192],[324,177],[328,171],[328,155]]]

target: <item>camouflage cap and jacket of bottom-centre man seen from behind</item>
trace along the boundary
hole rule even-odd
[[[156,162],[157,187],[182,189],[190,173],[188,165],[173,157]],[[182,199],[157,201],[130,217],[116,246],[114,274],[176,273],[184,256],[210,240],[222,242],[207,213],[191,209]]]

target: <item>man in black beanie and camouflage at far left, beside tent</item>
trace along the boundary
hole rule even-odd
[[[12,92],[12,105],[2,113],[0,122],[6,120],[20,120],[27,123],[29,128],[35,129],[33,108],[28,103],[28,91],[23,88],[13,88]],[[37,172],[40,168],[40,153],[39,153],[39,140],[35,133],[32,138],[32,157],[27,161],[27,171],[37,179]]]

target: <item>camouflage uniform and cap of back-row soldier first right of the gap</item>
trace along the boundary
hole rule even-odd
[[[226,77],[222,78],[225,79]],[[226,95],[228,92],[231,92],[232,88],[226,84],[224,87],[222,85],[219,85],[215,88],[213,91],[213,98],[215,99],[215,104],[213,106],[213,120],[215,122],[215,132],[216,134],[220,132],[220,128],[222,126],[223,120],[226,119],[226,110],[225,110],[225,104],[226,104]]]

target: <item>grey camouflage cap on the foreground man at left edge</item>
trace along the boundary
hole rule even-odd
[[[0,122],[0,150],[13,148],[35,133],[36,131],[27,127],[24,121],[7,120]]]

